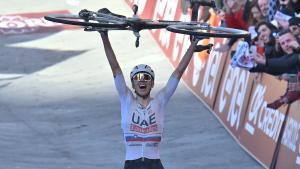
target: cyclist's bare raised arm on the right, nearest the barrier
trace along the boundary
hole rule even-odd
[[[172,76],[174,76],[177,79],[181,78],[181,76],[183,75],[185,69],[187,68],[187,66],[190,63],[190,60],[191,60],[191,58],[193,56],[193,53],[194,53],[194,51],[196,49],[196,46],[197,46],[197,42],[198,42],[197,39],[191,42],[191,45],[189,46],[189,48],[186,51],[186,53],[184,54],[183,58],[181,59],[178,66],[174,70]]]

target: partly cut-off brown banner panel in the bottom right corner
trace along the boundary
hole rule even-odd
[[[282,136],[276,169],[300,169],[300,101],[291,104]]]

